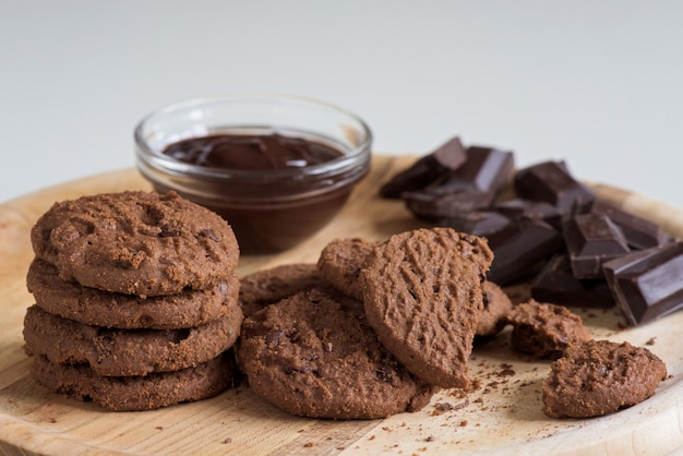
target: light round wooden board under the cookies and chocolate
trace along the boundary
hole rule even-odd
[[[276,255],[243,256],[238,273],[314,262],[337,237],[384,239],[419,226],[400,202],[376,196],[379,185],[412,157],[378,156],[372,172],[333,223],[304,244]],[[683,211],[643,195],[591,184],[599,195],[663,224],[683,237]],[[470,369],[479,387],[445,391],[416,413],[376,421],[289,416],[248,387],[213,399],[145,412],[109,412],[48,393],[29,376],[23,316],[33,303],[25,274],[33,257],[28,231],[55,201],[148,189],[133,169],[46,189],[0,205],[0,453],[2,454],[663,454],[683,446],[683,312],[623,329],[614,310],[580,311],[596,338],[646,345],[670,377],[645,403],[608,417],[553,420],[541,412],[546,362],[516,356],[508,333],[478,347]]]

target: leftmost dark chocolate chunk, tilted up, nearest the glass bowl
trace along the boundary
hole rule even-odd
[[[412,166],[395,175],[380,188],[380,195],[387,199],[400,197],[402,193],[421,190],[448,170],[457,169],[466,160],[463,143],[456,136],[434,152],[418,159]]]

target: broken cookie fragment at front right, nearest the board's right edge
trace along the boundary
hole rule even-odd
[[[631,407],[655,394],[667,377],[662,360],[628,343],[586,340],[571,345],[543,381],[543,413],[589,418]]]

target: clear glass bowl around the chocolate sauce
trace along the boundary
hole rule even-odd
[[[247,169],[197,165],[164,153],[183,140],[223,134],[291,136],[338,154],[314,165]],[[137,169],[156,191],[175,190],[216,212],[232,227],[241,252],[260,253],[297,245],[339,212],[370,170],[372,133],[360,118],[326,103],[235,94],[160,108],[140,121],[134,140]]]

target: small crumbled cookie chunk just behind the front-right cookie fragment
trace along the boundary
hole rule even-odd
[[[534,358],[558,359],[571,344],[590,338],[582,317],[564,305],[530,299],[505,320],[513,325],[512,347]]]

